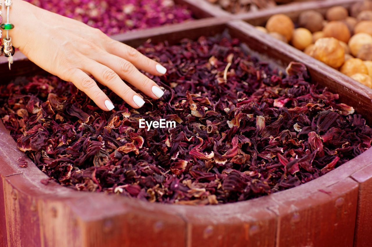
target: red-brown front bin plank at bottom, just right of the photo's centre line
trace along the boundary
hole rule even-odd
[[[269,197],[262,200],[236,202],[195,210],[184,207],[187,221],[187,246],[275,246],[276,216],[266,207],[275,203]],[[225,212],[223,214],[222,212]]]

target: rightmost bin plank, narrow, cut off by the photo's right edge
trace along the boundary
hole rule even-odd
[[[359,183],[354,247],[368,247],[372,242],[372,164],[351,177]]]

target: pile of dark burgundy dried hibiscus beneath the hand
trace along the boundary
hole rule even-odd
[[[140,109],[103,88],[116,106],[103,112],[54,76],[2,86],[7,129],[62,185],[151,202],[243,201],[313,180],[371,146],[365,120],[309,83],[301,64],[284,75],[225,36],[138,50],[168,69],[151,76],[163,98]],[[177,125],[147,131],[140,118]]]

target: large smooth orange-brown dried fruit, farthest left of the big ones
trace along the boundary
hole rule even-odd
[[[295,24],[291,18],[285,14],[275,14],[267,20],[266,29],[268,32],[276,32],[282,34],[287,42],[291,40]]]

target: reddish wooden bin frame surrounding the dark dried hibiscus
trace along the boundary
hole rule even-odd
[[[209,36],[227,27],[232,36],[247,42],[251,49],[268,53],[283,65],[291,61],[304,63],[313,80],[340,92],[341,101],[351,102],[358,112],[371,106],[372,90],[303,56],[294,47],[266,37],[246,22],[224,22],[220,18],[199,20],[192,27],[181,23],[178,30],[155,28],[126,37],[128,42],[132,39],[132,44],[148,37],[154,42],[164,37],[178,40],[182,34],[190,38],[201,34]],[[363,115],[372,122],[371,116]],[[4,198],[0,200],[0,243],[9,243],[9,246],[22,243],[35,246],[55,243],[60,246],[80,246],[81,243],[84,246],[229,246],[232,243],[238,246],[298,246],[299,243],[351,246],[358,182],[371,177],[366,170],[372,165],[372,149],[369,149],[320,178],[248,201],[206,206],[150,203],[118,195],[75,191],[56,182],[44,185],[40,181],[48,178],[47,175],[29,159],[28,168],[18,167],[17,158],[24,154],[16,148],[2,122],[0,136],[3,144],[0,145],[3,180],[0,198]],[[351,176],[355,176],[354,179]]]

